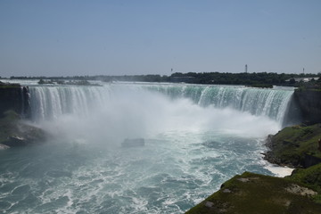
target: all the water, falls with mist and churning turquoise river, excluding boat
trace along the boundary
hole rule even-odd
[[[172,84],[29,86],[53,139],[0,155],[4,213],[182,213],[245,170],[292,89]],[[141,147],[122,147],[143,137]]]

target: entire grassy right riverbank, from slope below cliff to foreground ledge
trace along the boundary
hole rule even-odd
[[[268,136],[265,159],[296,168],[288,177],[244,172],[221,185],[193,213],[320,213],[321,125],[284,128]]]

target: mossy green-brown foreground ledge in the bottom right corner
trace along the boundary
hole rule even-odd
[[[318,196],[294,179],[245,172],[186,213],[320,213],[321,204],[314,200]]]

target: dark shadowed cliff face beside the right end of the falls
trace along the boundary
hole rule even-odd
[[[299,104],[303,123],[307,125],[321,123],[320,90],[296,90],[294,99]]]

